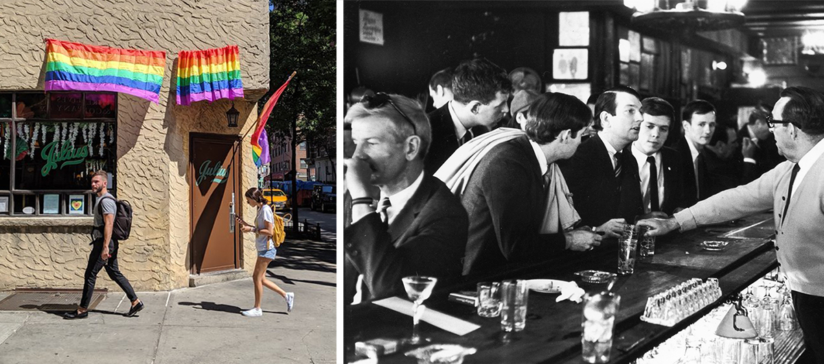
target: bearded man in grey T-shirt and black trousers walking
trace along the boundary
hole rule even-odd
[[[83,284],[80,306],[77,306],[77,312],[68,312],[63,315],[63,319],[66,320],[88,317],[88,307],[91,303],[91,293],[95,290],[97,273],[104,267],[105,272],[109,273],[109,278],[117,282],[132,302],[132,307],[126,316],[132,317],[139,310],[143,310],[143,302],[138,300],[138,295],[134,293],[129,280],[124,277],[123,273],[120,273],[117,267],[118,241],[112,239],[111,236],[112,227],[115,225],[117,204],[115,197],[106,189],[106,184],[108,184],[108,174],[104,170],[98,170],[91,176],[91,192],[97,194],[97,203],[93,210],[95,222],[91,231],[91,254],[89,254],[89,264],[84,275],[86,282]]]

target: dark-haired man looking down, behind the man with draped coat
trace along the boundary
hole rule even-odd
[[[452,76],[452,101],[428,114],[432,146],[425,170],[434,174],[455,150],[498,124],[509,112],[507,72],[486,58],[461,62]]]

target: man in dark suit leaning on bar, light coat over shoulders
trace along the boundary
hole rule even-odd
[[[557,259],[564,250],[600,244],[601,236],[589,229],[544,229],[553,206],[547,194],[564,178],[553,163],[572,156],[590,122],[587,105],[574,96],[541,95],[528,111],[527,135],[494,147],[475,167],[461,196],[470,217],[464,274]]]

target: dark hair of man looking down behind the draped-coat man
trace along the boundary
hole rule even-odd
[[[489,104],[498,92],[509,94],[513,91],[507,72],[486,58],[475,58],[461,62],[452,77],[452,95],[461,104],[478,100]]]

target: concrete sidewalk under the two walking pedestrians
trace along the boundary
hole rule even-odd
[[[335,362],[335,241],[288,240],[268,276],[295,292],[291,313],[264,288],[264,315],[241,315],[254,304],[251,278],[138,292],[146,309],[133,318],[123,316],[129,300],[116,290],[85,320],[0,311],[0,364]]]

